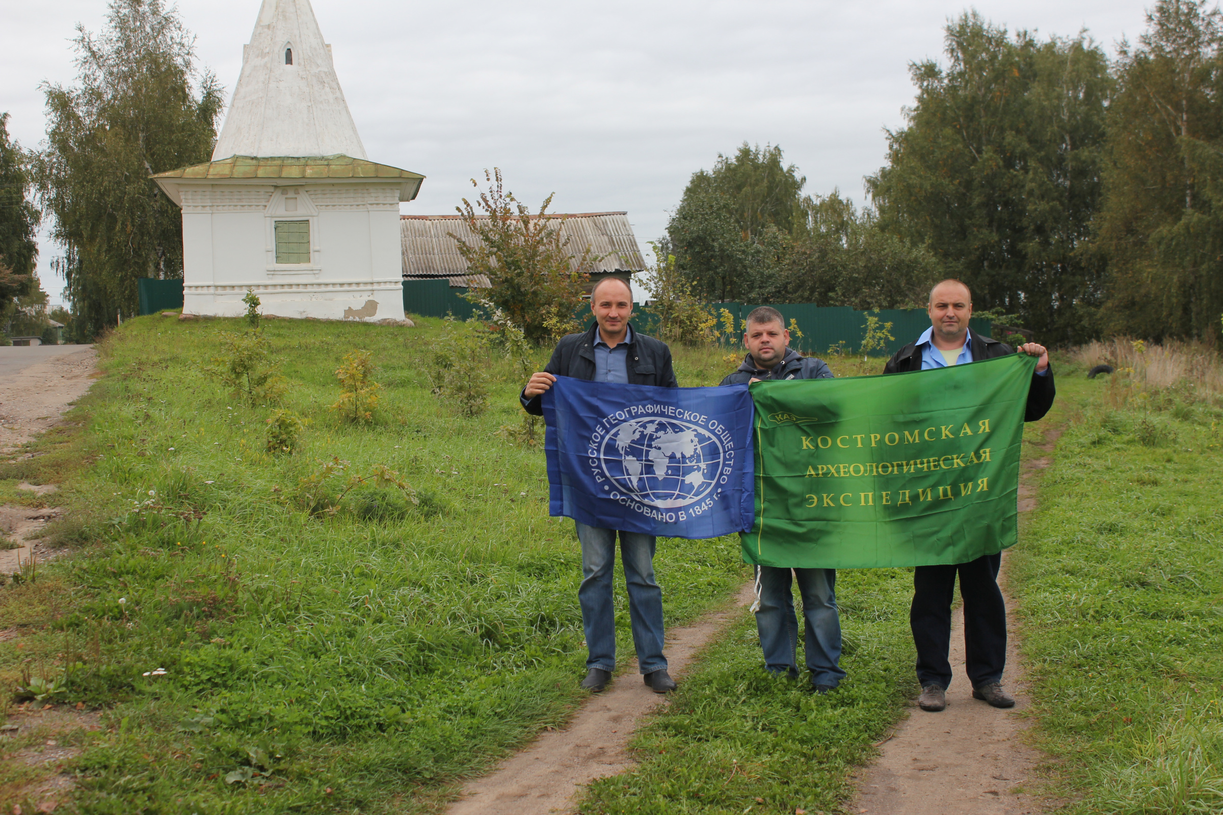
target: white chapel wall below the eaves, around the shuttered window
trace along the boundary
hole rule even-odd
[[[397,183],[234,180],[181,194],[186,313],[242,314],[252,288],[265,314],[404,319]],[[308,263],[276,263],[278,220],[309,222]]]

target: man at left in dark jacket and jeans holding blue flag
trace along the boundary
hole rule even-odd
[[[556,376],[679,387],[671,369],[671,351],[665,342],[632,330],[632,291],[619,277],[604,277],[591,292],[594,326],[585,334],[561,337],[544,369],[531,375],[520,400],[527,413],[543,413],[543,392]],[[615,670],[615,607],[612,600],[612,574],[615,567],[615,540],[620,536],[629,589],[629,618],[632,644],[646,684],[654,693],[675,689],[663,656],[663,591],[654,582],[654,536],[636,532],[599,529],[577,523],[582,545],[582,585],[577,601],[582,606],[586,632],[586,678],[582,687],[599,692]]]

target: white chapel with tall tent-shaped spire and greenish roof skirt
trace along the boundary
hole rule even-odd
[[[424,176],[374,164],[309,0],[263,0],[208,164],[153,178],[182,208],[183,313],[404,319],[399,203]]]

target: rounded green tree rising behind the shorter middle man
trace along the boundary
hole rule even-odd
[[[783,236],[794,225],[806,178],[781,148],[740,145],[713,170],[692,174],[667,225],[676,268],[711,299],[769,298]]]

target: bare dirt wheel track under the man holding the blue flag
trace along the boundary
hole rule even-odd
[[[668,632],[670,673],[682,679],[696,652],[752,600],[752,587],[747,584],[733,606]],[[645,685],[636,665],[634,661],[607,690],[592,695],[567,727],[541,734],[490,775],[467,784],[449,815],[571,811],[574,794],[581,787],[629,769],[632,759],[625,744],[643,716],[667,704],[664,696]]]

